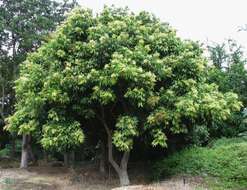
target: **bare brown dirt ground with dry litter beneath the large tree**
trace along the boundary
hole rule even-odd
[[[140,175],[141,173],[141,175]],[[200,178],[176,177],[148,184],[143,172],[132,171],[132,186],[118,188],[118,179],[111,172],[100,174],[96,168],[30,167],[28,170],[0,169],[0,190],[202,190]]]

